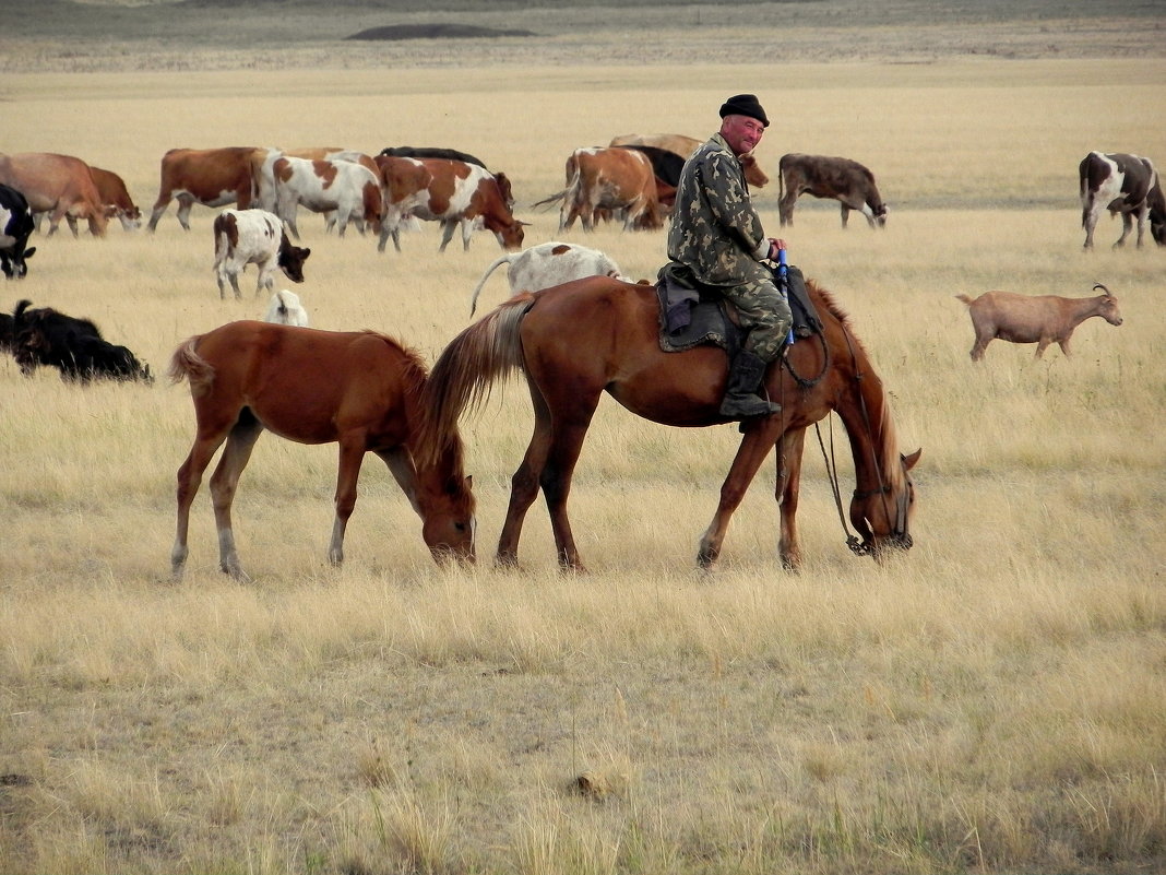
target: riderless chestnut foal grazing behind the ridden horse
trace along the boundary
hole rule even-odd
[[[197,421],[195,443],[178,469],[178,531],[170,553],[175,580],[182,578],[189,552],[190,504],[224,441],[211,476],[219,567],[246,578],[231,531],[231,503],[265,428],[300,443],[339,443],[336,523],[328,548],[332,565],[344,561],[344,530],[365,453],[388,466],[421,517],[421,534],[434,558],[473,561],[472,478],[462,474],[462,441],[455,430],[443,435],[440,452],[420,452],[426,369],[396,341],[373,331],[232,322],[181,344],[170,377],[190,380]]]

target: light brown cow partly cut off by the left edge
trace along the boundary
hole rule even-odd
[[[73,236],[77,219],[85,219],[90,233],[105,237],[106,210],[89,164],[79,158],[51,152],[0,155],[0,183],[20,191],[34,215],[49,214],[50,236],[68,217]]]

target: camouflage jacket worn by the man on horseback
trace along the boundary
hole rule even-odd
[[[668,230],[668,258],[710,286],[740,286],[768,271],[770,252],[753,209],[745,169],[721,134],[684,162]]]

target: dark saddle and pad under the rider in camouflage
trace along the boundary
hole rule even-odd
[[[777,267],[771,270],[780,289],[782,284]],[[736,308],[721,294],[719,287],[700,282],[687,267],[669,261],[658,274],[656,295],[660,299],[661,350],[682,352],[712,344],[730,356],[736,354],[747,329],[740,327]],[[794,340],[821,334],[822,320],[809,300],[806,278],[793,265],[786,268],[786,298],[793,314]]]

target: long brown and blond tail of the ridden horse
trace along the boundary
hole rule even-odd
[[[519,326],[531,307],[529,292],[508,299],[450,341],[426,380],[424,422],[419,446],[436,461],[457,435],[457,420],[490,398],[494,380],[522,368]]]

